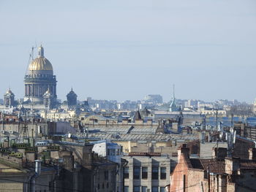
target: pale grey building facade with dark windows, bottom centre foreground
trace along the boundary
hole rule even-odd
[[[135,153],[122,158],[124,166],[124,192],[165,192],[170,184],[170,158],[167,156]]]

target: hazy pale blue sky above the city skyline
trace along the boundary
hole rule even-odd
[[[0,97],[42,42],[59,99],[256,97],[255,0],[0,1]]]

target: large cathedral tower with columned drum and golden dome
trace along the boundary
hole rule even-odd
[[[31,64],[25,75],[24,101],[33,104],[43,104],[44,94],[49,90],[53,97],[53,104],[57,99],[56,76],[53,75],[53,66],[44,55],[42,45],[38,48],[38,56]]]

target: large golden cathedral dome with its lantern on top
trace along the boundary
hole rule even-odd
[[[38,57],[29,65],[29,71],[53,71],[53,66],[47,58],[44,57],[44,48],[38,48]]]

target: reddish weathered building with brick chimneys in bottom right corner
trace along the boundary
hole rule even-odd
[[[219,151],[219,152],[218,152]],[[252,150],[252,153],[255,150]],[[227,150],[214,148],[215,158],[190,158],[189,148],[178,149],[178,164],[170,176],[169,191],[255,191],[256,161],[225,158]],[[252,154],[253,156],[253,154]]]

